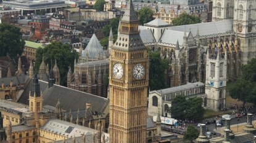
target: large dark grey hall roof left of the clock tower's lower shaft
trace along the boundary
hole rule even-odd
[[[23,91],[22,96],[18,102],[23,104],[29,104],[28,96],[31,91],[30,82],[27,88]],[[39,80],[40,91],[43,91],[43,106],[53,106],[55,107],[58,99],[60,99],[60,104],[62,109],[69,111],[85,109],[86,102],[91,102],[91,109],[100,112],[104,107],[105,102],[108,102],[107,98],[102,98],[100,96],[85,93],[83,91],[73,90],[71,88],[62,87],[60,85],[54,84],[51,88],[48,87],[48,82]]]

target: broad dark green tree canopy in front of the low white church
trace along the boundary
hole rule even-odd
[[[199,97],[186,99],[184,95],[177,95],[171,101],[170,112],[178,120],[200,120],[205,113],[202,103]]]

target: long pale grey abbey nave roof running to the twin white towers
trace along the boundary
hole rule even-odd
[[[233,21],[234,20],[221,20],[207,23],[197,23],[194,25],[173,26],[171,27],[171,30],[184,32],[184,29],[186,28],[187,30],[191,30],[193,36],[196,36],[197,28],[199,28],[200,36],[226,32],[230,33],[233,29]]]

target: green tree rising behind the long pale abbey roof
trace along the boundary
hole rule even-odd
[[[201,20],[196,15],[190,15],[184,12],[183,14],[180,14],[178,18],[174,18],[171,22],[173,23],[173,26],[178,26],[200,23]]]

